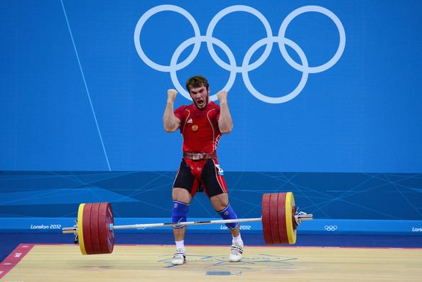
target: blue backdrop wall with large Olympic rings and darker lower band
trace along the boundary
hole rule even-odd
[[[421,13],[420,1],[2,1],[1,217],[73,217],[90,200],[169,215],[182,139],[162,129],[166,90],[190,103],[182,86],[202,74],[229,91],[234,131],[218,152],[240,215],[293,190],[320,219],[413,220],[421,234]],[[193,215],[215,216],[198,202]]]

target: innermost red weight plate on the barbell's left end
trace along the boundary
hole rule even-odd
[[[98,211],[99,246],[102,254],[111,254],[114,249],[114,230],[110,230],[110,224],[114,224],[112,205],[102,202]]]

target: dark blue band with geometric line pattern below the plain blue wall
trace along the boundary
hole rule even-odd
[[[77,217],[80,202],[112,202],[116,217],[170,217],[175,172],[0,173],[0,217]],[[318,219],[422,219],[420,173],[226,172],[239,217],[260,217],[265,192],[292,191]],[[43,208],[40,208],[43,205]],[[198,193],[189,217],[219,216]]]

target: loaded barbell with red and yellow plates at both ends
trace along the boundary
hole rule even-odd
[[[114,225],[112,205],[109,202],[80,204],[76,224],[73,227],[64,227],[62,232],[75,235],[75,242],[79,241],[82,254],[111,254],[114,249],[114,230],[117,229],[262,222],[265,244],[295,244],[296,227],[303,220],[311,219],[312,214],[299,212],[296,208],[293,192],[280,192],[262,196],[261,217],[199,222]]]

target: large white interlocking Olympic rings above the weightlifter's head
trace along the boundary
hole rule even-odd
[[[195,36],[192,38],[188,38],[183,43],[181,43],[178,48],[175,49],[172,57],[170,65],[159,65],[158,63],[153,62],[150,60],[146,54],[144,53],[144,50],[141,47],[141,30],[144,27],[144,24],[150,18],[151,16],[155,15],[156,13],[162,12],[162,11],[174,11],[176,13],[180,13],[182,16],[185,16],[185,18],[188,19],[190,24],[193,26],[193,31],[195,33]],[[252,15],[256,16],[256,18],[259,18],[261,23],[264,25],[264,28],[266,30],[266,38],[263,38],[261,40],[258,40],[256,43],[251,45],[249,50],[247,50],[247,53],[244,55],[242,65],[237,65],[236,60],[234,59],[234,55],[232,53],[232,50],[230,50],[229,47],[227,47],[226,44],[224,44],[221,40],[215,38],[212,36],[212,33],[214,33],[215,26],[217,26],[217,23],[224,17],[227,16],[229,13],[234,13],[238,11],[243,11],[247,13],[251,13]],[[308,64],[308,59],[305,56],[305,53],[303,53],[303,50],[294,43],[292,40],[285,37],[286,30],[288,27],[288,24],[293,21],[293,18],[296,18],[296,16],[301,15],[302,13],[307,12],[318,12],[323,13],[325,16],[328,16],[334,23],[335,26],[337,26],[338,32],[340,34],[340,42],[337,48],[337,51],[332,56],[330,60],[328,60],[327,63],[324,63],[322,65],[318,65],[315,67],[310,67]],[[278,35],[274,36],[271,31],[271,26],[269,25],[269,22],[266,20],[264,15],[262,15],[261,12],[258,10],[251,8],[250,6],[244,6],[244,5],[235,5],[235,6],[229,6],[225,9],[222,9],[222,11],[218,12],[210,21],[210,24],[207,27],[207,32],[205,36],[202,36],[200,34],[200,28],[198,26],[198,23],[195,21],[195,18],[193,18],[192,15],[188,11],[186,11],[183,8],[180,8],[179,6],[174,5],[160,5],[153,7],[152,9],[149,9],[144,13],[141,18],[139,18],[138,23],[136,23],[136,28],[134,32],[134,41],[135,41],[135,47],[136,52],[138,53],[141,60],[146,63],[149,67],[152,67],[154,70],[158,70],[160,72],[170,72],[171,75],[171,81],[173,82],[173,85],[175,86],[176,90],[180,94],[183,95],[186,99],[190,99],[190,95],[188,92],[180,85],[180,82],[178,81],[177,77],[177,71],[183,69],[184,67],[188,66],[190,63],[195,60],[196,55],[198,55],[198,52],[200,50],[200,45],[202,42],[207,43],[207,49],[208,52],[211,55],[212,60],[217,63],[220,67],[222,67],[224,70],[227,70],[230,72],[229,80],[227,81],[227,84],[223,87],[224,90],[229,91],[233,84],[234,80],[236,79],[237,73],[242,74],[242,78],[244,81],[244,85],[247,87],[247,90],[251,92],[254,97],[257,99],[270,103],[270,104],[279,104],[288,102],[294,97],[296,97],[303,88],[305,87],[305,84],[308,80],[308,75],[311,73],[318,73],[323,72],[325,70],[328,70],[330,67],[335,65],[338,60],[340,60],[340,57],[342,56],[343,51],[345,50],[346,45],[346,33],[345,28],[343,27],[340,19],[335,15],[335,13],[332,13],[332,11],[325,9],[321,6],[302,6],[301,8],[298,8],[286,16],[284,18],[283,22],[281,23],[281,26],[278,30]],[[285,94],[280,97],[268,97],[258,90],[251,84],[251,81],[249,80],[249,72],[251,70],[255,70],[257,67],[260,67],[266,59],[269,57],[271,50],[273,48],[273,44],[278,43],[278,49],[281,52],[281,55],[283,56],[284,60],[288,63],[288,65],[291,65],[294,69],[302,72],[301,81],[299,82],[298,86],[290,93]],[[193,50],[188,55],[188,58],[185,58],[182,62],[178,63],[178,59],[180,55],[183,53],[183,51],[188,48],[190,45],[193,45]],[[229,59],[229,64],[225,63],[215,52],[214,45],[217,45],[220,47],[224,53],[227,55],[227,58]],[[264,53],[259,57],[254,63],[250,63],[251,57],[254,55],[256,50],[261,48],[262,46],[266,46]],[[296,63],[290,55],[288,55],[286,50],[286,45],[288,45],[290,48],[292,48],[301,59],[301,64]],[[217,99],[217,95],[214,94],[210,96],[210,99],[212,101],[215,101]]]

